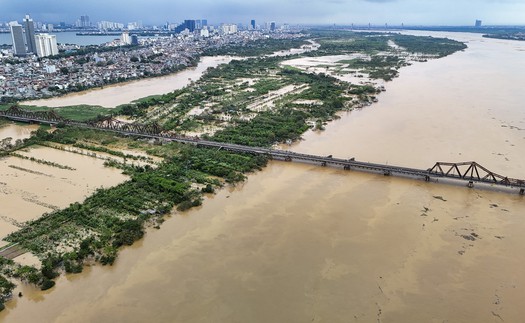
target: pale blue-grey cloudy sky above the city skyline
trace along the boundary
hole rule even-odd
[[[145,24],[208,19],[209,23],[525,25],[525,0],[0,0],[0,21]]]

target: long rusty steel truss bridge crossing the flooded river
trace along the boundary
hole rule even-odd
[[[345,170],[359,170],[380,173],[386,176],[403,176],[422,179],[425,181],[449,179],[453,181],[464,182],[467,187],[471,188],[474,187],[474,183],[486,184],[496,187],[517,188],[521,195],[525,194],[525,180],[499,175],[476,162],[437,162],[432,168],[423,170],[401,166],[360,162],[356,161],[354,158],[341,159],[333,158],[331,155],[309,155],[278,149],[250,147],[210,140],[202,140],[198,137],[174,136],[163,133],[162,128],[156,123],[148,125],[126,123],[115,120],[111,117],[100,118],[98,120],[89,122],[75,122],[60,117],[54,111],[26,111],[16,106],[11,107],[6,111],[0,111],[0,117],[19,122],[44,123],[50,125],[64,124],[83,128],[106,130],[130,136],[152,138],[164,141],[176,141],[184,144],[224,149],[239,153],[260,154],[277,160],[314,163],[320,166],[332,166]]]

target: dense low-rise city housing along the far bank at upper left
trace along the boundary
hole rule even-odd
[[[123,41],[129,37],[126,32],[120,39],[101,46],[59,44],[60,54],[50,57],[17,57],[4,49],[0,52],[0,102],[45,98],[165,75],[196,64],[206,49],[301,36],[288,31],[223,32],[224,29],[230,30],[140,37],[135,46]]]

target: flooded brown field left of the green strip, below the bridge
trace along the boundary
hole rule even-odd
[[[48,147],[19,153],[67,168],[13,156],[0,159],[1,238],[43,213],[80,202],[99,187],[114,186],[127,179],[120,170],[104,167],[104,160],[89,156]]]

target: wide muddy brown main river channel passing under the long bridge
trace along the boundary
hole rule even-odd
[[[444,35],[443,33],[432,33]],[[525,43],[468,41],[403,68],[371,107],[289,149],[523,178]],[[520,322],[519,195],[271,162],[120,254],[21,286],[5,322]]]

